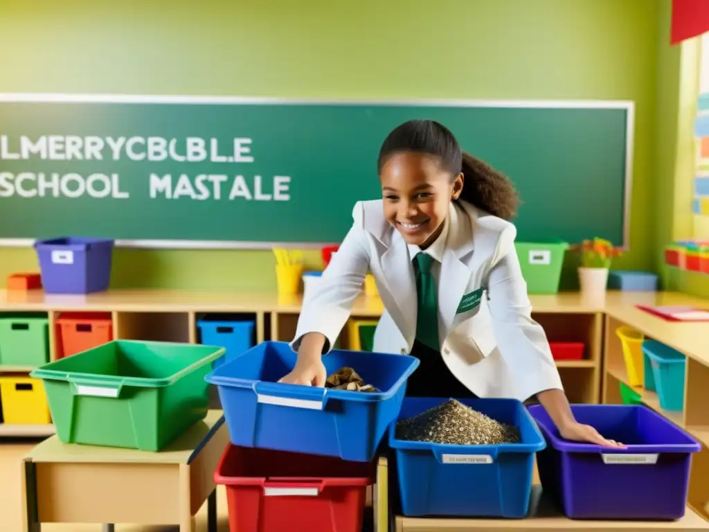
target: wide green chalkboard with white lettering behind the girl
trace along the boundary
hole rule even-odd
[[[506,172],[518,240],[625,243],[627,102],[308,102],[0,95],[0,244],[337,243],[381,197],[376,157],[411,118]]]

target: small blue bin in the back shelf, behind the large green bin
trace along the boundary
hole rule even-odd
[[[225,348],[222,357],[215,360],[212,367],[218,367],[224,362],[233,360],[255,344],[254,320],[229,319],[223,316],[204,316],[197,321],[200,333],[200,343],[217,345]]]

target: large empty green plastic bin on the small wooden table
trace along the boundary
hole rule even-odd
[[[43,379],[64,443],[157,451],[201,421],[224,348],[114,340],[30,373]]]

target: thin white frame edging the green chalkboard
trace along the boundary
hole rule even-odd
[[[625,172],[623,184],[623,243],[630,243],[630,209],[632,204],[632,172],[634,157],[635,102],[630,100],[552,100],[552,99],[353,99],[353,98],[289,98],[258,96],[181,96],[150,94],[64,94],[64,93],[0,93],[2,103],[104,103],[104,104],[195,104],[195,105],[352,105],[352,106],[437,106],[494,107],[523,109],[616,109],[625,111]],[[28,247],[32,238],[0,238],[0,247]],[[230,249],[263,250],[274,246],[284,248],[320,248],[331,242],[280,243],[230,240],[121,240],[116,247],[143,249]]]

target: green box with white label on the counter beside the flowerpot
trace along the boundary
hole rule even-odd
[[[566,242],[516,242],[522,275],[527,282],[527,294],[556,294],[562,279]]]

